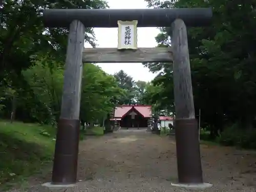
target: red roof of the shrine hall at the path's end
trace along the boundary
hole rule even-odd
[[[117,106],[115,110],[115,118],[123,117],[129,112],[132,108],[135,108],[143,117],[152,117],[151,105],[121,105]]]

